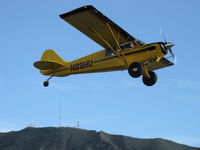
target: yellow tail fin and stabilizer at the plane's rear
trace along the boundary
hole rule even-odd
[[[56,70],[64,66],[67,62],[60,58],[53,50],[46,50],[40,61],[34,63],[34,66],[39,70]]]

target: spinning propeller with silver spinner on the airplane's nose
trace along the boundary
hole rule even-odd
[[[162,38],[164,40],[164,43],[163,43],[164,48],[167,49],[167,50],[169,50],[169,53],[170,53],[171,57],[174,60],[174,63],[176,63],[176,56],[175,56],[175,54],[173,53],[173,51],[171,49],[175,44],[172,43],[172,42],[167,42],[167,39],[166,39],[166,37],[165,37],[164,32],[162,31],[162,29],[160,29],[160,34],[161,34],[161,36],[162,36]]]

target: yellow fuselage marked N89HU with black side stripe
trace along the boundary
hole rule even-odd
[[[127,70],[132,62],[144,64],[151,59],[162,58],[165,53],[161,42],[145,44],[140,47],[124,48],[117,50],[101,50],[96,53],[81,57],[71,62],[66,62],[56,70],[41,70],[41,73],[48,76],[69,76],[72,74],[108,72]]]

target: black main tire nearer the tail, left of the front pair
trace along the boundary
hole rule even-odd
[[[142,65],[138,62],[130,64],[128,67],[128,73],[133,78],[138,78],[142,75]]]

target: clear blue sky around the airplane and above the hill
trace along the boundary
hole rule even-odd
[[[46,49],[66,61],[103,48],[59,15],[93,5],[145,43],[163,41],[176,65],[153,87],[127,71],[48,77],[33,67]],[[1,0],[0,132],[76,127],[200,147],[199,0]],[[59,119],[60,118],[60,119]],[[60,121],[59,121],[60,120]]]

